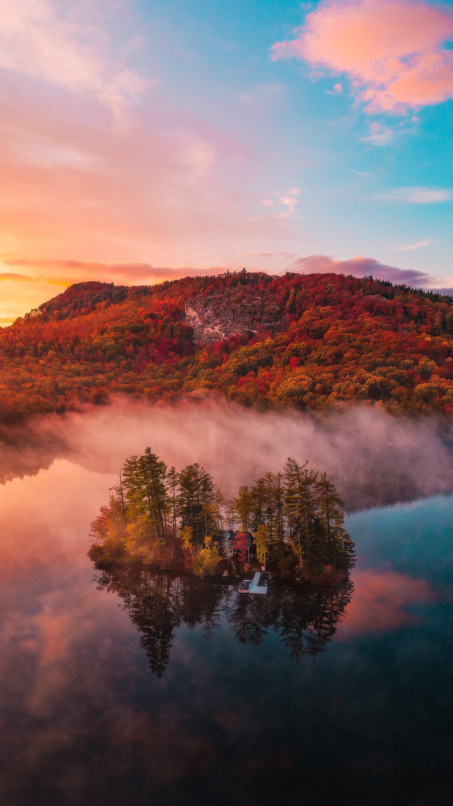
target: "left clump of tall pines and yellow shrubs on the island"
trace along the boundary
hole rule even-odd
[[[222,493],[198,463],[181,472],[151,448],[131,456],[112,488],[109,505],[92,524],[90,557],[107,562],[123,555],[157,568],[214,574],[222,536]]]

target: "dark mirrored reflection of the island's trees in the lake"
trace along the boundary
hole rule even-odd
[[[354,590],[351,580],[335,589],[279,582],[267,596],[241,596],[231,580],[156,574],[143,567],[100,571],[96,581],[100,590],[123,599],[157,677],[167,667],[175,628],[199,626],[212,638],[221,617],[241,644],[259,646],[272,629],[296,663],[303,655],[315,658],[335,635]]]

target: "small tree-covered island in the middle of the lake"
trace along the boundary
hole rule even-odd
[[[199,463],[177,472],[148,447],[123,465],[108,505],[92,523],[98,569],[221,576],[268,570],[335,587],[355,564],[343,501],[326,472],[288,459],[226,501]]]

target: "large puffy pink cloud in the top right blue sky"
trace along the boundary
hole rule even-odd
[[[409,0],[324,2],[272,58],[296,57],[323,73],[347,73],[368,114],[404,112],[453,98],[453,35],[445,5]]]

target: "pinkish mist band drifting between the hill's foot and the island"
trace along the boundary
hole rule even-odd
[[[201,463],[227,497],[267,470],[281,470],[288,456],[334,476],[349,511],[453,490],[453,426],[433,417],[397,419],[379,406],[314,418],[210,401],[152,406],[117,399],[40,418],[7,436],[3,480],[49,467],[57,456],[115,474],[149,445],[168,466]]]

